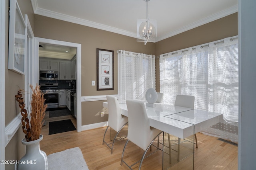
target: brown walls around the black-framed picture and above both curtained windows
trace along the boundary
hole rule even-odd
[[[35,15],[34,34],[36,37],[82,44],[82,96],[98,96],[118,93],[116,53],[118,49],[159,56],[238,35],[237,25],[237,13],[235,13],[157,43],[144,45],[136,42],[135,38],[125,35]],[[96,81],[96,48],[114,51],[114,90],[97,91],[96,86],[91,86],[92,80]],[[156,59],[156,90],[160,91],[159,59]],[[99,113],[102,109],[102,101],[82,102],[82,125],[107,121],[107,116],[100,117]]]

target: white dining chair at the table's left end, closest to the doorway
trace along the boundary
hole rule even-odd
[[[104,141],[106,132],[108,130],[108,127],[104,133],[103,142],[106,143],[106,145],[111,149],[111,154],[113,152],[114,143],[116,141],[116,137],[118,136],[119,132],[122,130],[122,128],[128,123],[128,117],[121,115],[120,113],[120,107],[118,104],[118,100],[114,96],[106,96],[108,101],[108,127],[111,127],[114,129],[117,133],[114,137],[114,140],[112,143],[106,143]],[[121,138],[124,139],[124,138]],[[112,144],[112,146],[110,146]]]

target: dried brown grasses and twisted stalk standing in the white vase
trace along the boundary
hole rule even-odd
[[[26,141],[34,141],[39,139],[43,125],[42,121],[47,108],[47,105],[44,104],[44,93],[40,91],[40,86],[36,84],[36,87],[33,88],[33,86],[30,85],[30,88],[32,90],[30,119],[28,119],[27,111],[24,108],[25,104],[22,98],[22,90],[19,90],[18,95],[15,96],[17,102],[19,102],[19,107],[21,108],[20,113],[22,115],[22,130],[26,134]]]

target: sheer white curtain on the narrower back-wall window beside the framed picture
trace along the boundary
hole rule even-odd
[[[118,50],[118,100],[145,100],[156,88],[155,56]]]

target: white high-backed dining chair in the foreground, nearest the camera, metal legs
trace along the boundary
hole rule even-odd
[[[124,150],[122,152],[121,165],[124,162],[124,164],[126,164],[130,169],[132,169],[131,168],[132,166],[140,162],[140,166],[139,166],[139,170],[140,170],[142,161],[144,158],[147,158],[148,156],[155,153],[156,151],[161,150],[159,147],[154,146],[157,149],[145,157],[145,154],[150,148],[151,144],[158,137],[158,135],[162,133],[162,131],[155,129],[153,127],[150,127],[144,102],[138,101],[138,100],[126,100],[126,105],[127,105],[128,120],[129,120],[128,136],[127,136],[128,140],[126,141],[126,144],[124,145]],[[144,154],[142,155],[141,160],[135,162],[132,165],[128,165],[123,159],[124,151],[129,141],[131,141],[132,143],[134,143],[135,145],[137,145],[138,147],[144,150]],[[159,138],[158,138],[158,143],[159,143]]]

